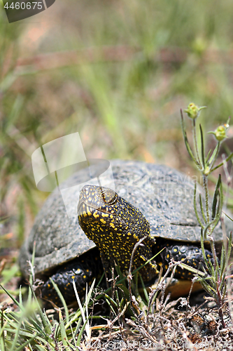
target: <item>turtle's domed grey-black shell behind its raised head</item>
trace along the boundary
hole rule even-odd
[[[193,207],[194,181],[168,166],[148,164],[142,161],[110,161],[115,191],[141,210],[150,223],[150,232],[155,237],[178,241],[200,242],[201,227]],[[98,176],[98,165],[92,167],[92,178]],[[34,226],[20,252],[20,267],[28,275],[34,243],[36,244],[34,272],[45,273],[57,265],[72,260],[95,247],[87,239],[78,224],[76,208],[80,187],[85,185],[87,168],[73,174],[62,183],[66,192],[66,206],[59,189],[56,189],[36,216]],[[103,180],[103,179],[102,179]],[[90,183],[87,180],[86,184]],[[106,184],[101,183],[103,186]],[[197,187],[197,199],[203,192]],[[204,203],[204,201],[203,201]],[[67,215],[73,211],[73,217]],[[199,204],[197,204],[199,208]],[[71,213],[69,212],[69,213]],[[201,213],[199,217],[202,218]],[[223,239],[220,223],[213,237],[220,243]]]

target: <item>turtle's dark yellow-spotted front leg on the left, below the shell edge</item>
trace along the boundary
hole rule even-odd
[[[103,267],[99,255],[90,257],[89,254],[89,256],[82,255],[80,258],[72,260],[71,263],[66,263],[51,278],[57,284],[66,303],[70,304],[76,301],[73,281],[76,284],[78,295],[81,297],[85,295],[86,285],[92,284],[94,278],[101,277],[102,273]],[[50,300],[56,305],[62,304],[50,279],[41,287],[41,298]]]

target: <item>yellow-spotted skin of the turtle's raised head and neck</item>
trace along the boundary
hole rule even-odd
[[[135,244],[143,237],[143,245],[134,253],[133,267],[140,267],[153,257],[155,240],[150,237],[150,224],[138,208],[113,190],[85,185],[80,192],[78,222],[89,239],[99,248],[104,267],[120,265],[129,270]],[[157,265],[150,262],[140,270],[144,282],[157,275]]]

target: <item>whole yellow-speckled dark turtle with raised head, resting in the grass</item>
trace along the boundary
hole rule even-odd
[[[88,167],[74,173],[62,184],[63,189],[72,190],[66,195],[66,204],[74,216],[69,218],[57,188],[46,199],[22,245],[20,269],[28,277],[35,243],[34,274],[43,281],[40,291],[45,300],[61,303],[50,277],[71,303],[76,300],[73,281],[82,296],[87,284],[103,272],[108,277],[109,267],[115,263],[127,274],[134,245],[142,238],[134,253],[134,267],[161,251],[140,270],[145,284],[153,284],[171,258],[195,268],[204,265],[201,226],[193,207],[194,181],[169,166],[143,161],[116,159],[110,161],[110,167],[114,190],[104,186],[108,179],[106,173],[99,176],[102,170],[98,164],[92,167],[91,175]],[[198,185],[197,199],[199,194],[203,197]],[[220,223],[213,239],[216,247],[221,245]],[[213,260],[207,241],[205,245],[206,256]],[[192,272],[176,268],[178,282],[192,277]]]

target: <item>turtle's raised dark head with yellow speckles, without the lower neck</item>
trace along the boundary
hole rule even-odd
[[[117,256],[149,235],[150,225],[138,208],[108,187],[85,185],[78,202],[78,222],[101,252]]]

